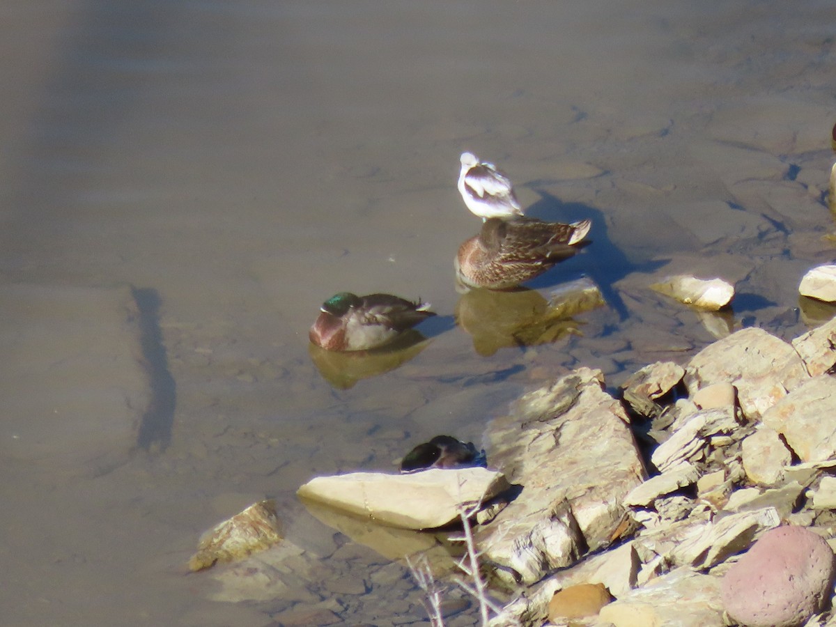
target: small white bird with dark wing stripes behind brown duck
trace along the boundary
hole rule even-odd
[[[497,166],[479,161],[471,152],[461,153],[459,193],[467,208],[482,220],[523,215],[511,180]]]

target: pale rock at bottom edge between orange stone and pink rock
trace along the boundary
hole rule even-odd
[[[604,606],[599,619],[615,627],[722,627],[720,579],[676,568]]]

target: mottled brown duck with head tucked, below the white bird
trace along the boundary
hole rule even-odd
[[[515,288],[572,257],[591,226],[589,220],[563,224],[491,218],[459,247],[456,277],[471,288]]]

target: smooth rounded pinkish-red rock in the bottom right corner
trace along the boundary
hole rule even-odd
[[[822,609],[833,581],[833,551],[803,527],[767,531],[723,578],[726,612],[750,627],[798,627]]]

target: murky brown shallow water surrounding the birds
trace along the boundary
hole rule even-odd
[[[684,361],[717,320],[645,288],[664,274],[737,281],[736,328],[803,330],[798,282],[833,258],[833,18],[828,0],[4,3],[3,624],[419,619],[403,568],[296,487],[439,432],[478,441],[579,364],[617,385]],[[465,149],[529,214],[594,220],[593,245],[533,283],[599,283],[609,307],[580,334],[474,349],[455,326],[451,260],[479,227]],[[140,425],[125,286],[155,362]],[[307,329],[345,289],[429,300],[431,342],[330,385]],[[265,495],[306,552],[298,584],[208,600],[212,577],[183,574],[196,538]]]

